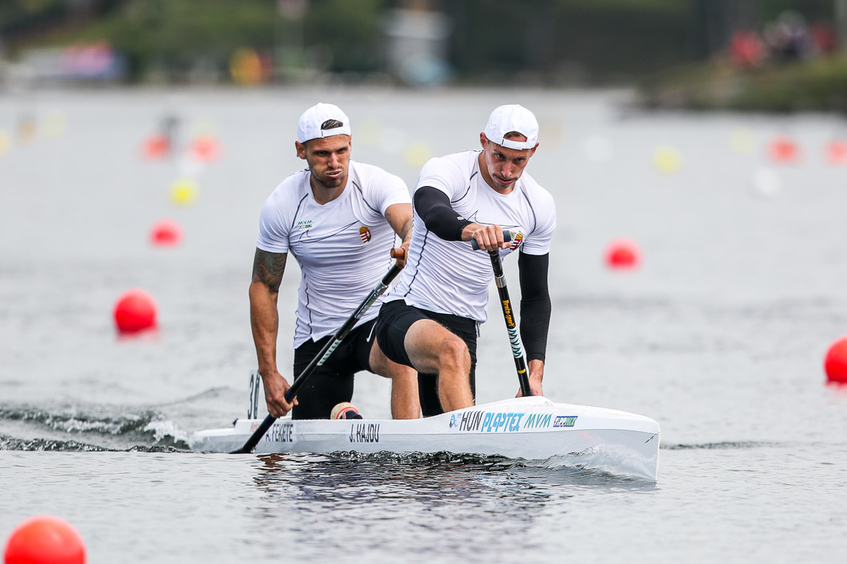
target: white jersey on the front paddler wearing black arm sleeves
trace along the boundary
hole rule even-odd
[[[527,172],[509,194],[496,192],[479,172],[480,152],[430,159],[421,170],[415,190],[422,186],[440,189],[450,197],[457,216],[517,233],[512,246],[500,251],[501,257],[516,249],[529,255],[550,252],[556,227],[556,204],[551,194]],[[406,268],[387,299],[404,299],[421,309],[483,322],[493,277],[488,253],[473,250],[468,242],[439,238],[426,228],[415,210]]]

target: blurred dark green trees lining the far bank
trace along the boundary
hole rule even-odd
[[[249,47],[349,79],[387,71],[386,14],[448,16],[447,63],[459,84],[592,85],[701,61],[739,26],[793,9],[832,21],[833,0],[311,0],[302,17],[280,0],[2,0],[0,41],[15,52],[108,41],[130,81],[226,76]],[[295,3],[296,4],[296,3]]]

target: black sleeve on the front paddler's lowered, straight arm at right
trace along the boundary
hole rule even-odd
[[[521,340],[527,361],[545,359],[547,331],[550,329],[550,288],[547,271],[550,255],[518,254],[521,284]]]

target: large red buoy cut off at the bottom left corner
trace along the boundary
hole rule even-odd
[[[14,528],[3,554],[5,564],[85,564],[86,544],[64,519],[37,515]]]

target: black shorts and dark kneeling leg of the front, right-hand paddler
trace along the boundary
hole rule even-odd
[[[379,317],[374,331],[377,342],[379,342],[379,348],[382,349],[386,357],[397,364],[412,366],[412,361],[409,360],[404,345],[406,333],[415,321],[424,319],[439,322],[468,345],[468,352],[471,355],[471,373],[469,375],[471,393],[473,397],[476,397],[476,320],[461,315],[440,314],[435,311],[419,309],[407,305],[401,299],[385,302],[379,308]],[[420,396],[421,412],[424,413],[424,417],[444,413],[438,399],[438,379],[435,374],[418,372],[418,395]]]

